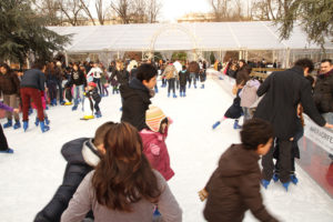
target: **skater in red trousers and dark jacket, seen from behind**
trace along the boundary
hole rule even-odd
[[[42,132],[50,130],[44,123],[44,113],[42,108],[41,93],[44,91],[46,75],[41,70],[44,70],[44,64],[36,62],[32,69],[24,72],[21,81],[21,99],[23,110],[23,129],[28,129],[28,111],[31,99],[37,107],[38,119]]]

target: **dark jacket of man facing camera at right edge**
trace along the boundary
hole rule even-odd
[[[333,69],[317,77],[313,99],[321,113],[333,112]]]

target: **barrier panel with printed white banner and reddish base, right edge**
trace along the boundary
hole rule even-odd
[[[333,131],[304,115],[304,137],[299,141],[299,165],[333,198]]]

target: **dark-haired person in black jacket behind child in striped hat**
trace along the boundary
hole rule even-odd
[[[148,63],[138,68],[137,78],[130,84],[120,85],[120,93],[123,100],[122,122],[129,122],[139,131],[148,128],[145,124],[145,111],[151,103],[154,85],[157,84],[158,70]]]

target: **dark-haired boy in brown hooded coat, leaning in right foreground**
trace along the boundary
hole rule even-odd
[[[269,152],[273,130],[269,122],[249,120],[241,131],[241,144],[232,144],[221,157],[205,189],[199,192],[205,198],[203,211],[209,222],[241,222],[246,210],[265,222],[278,221],[265,209],[260,193],[260,155]]]

